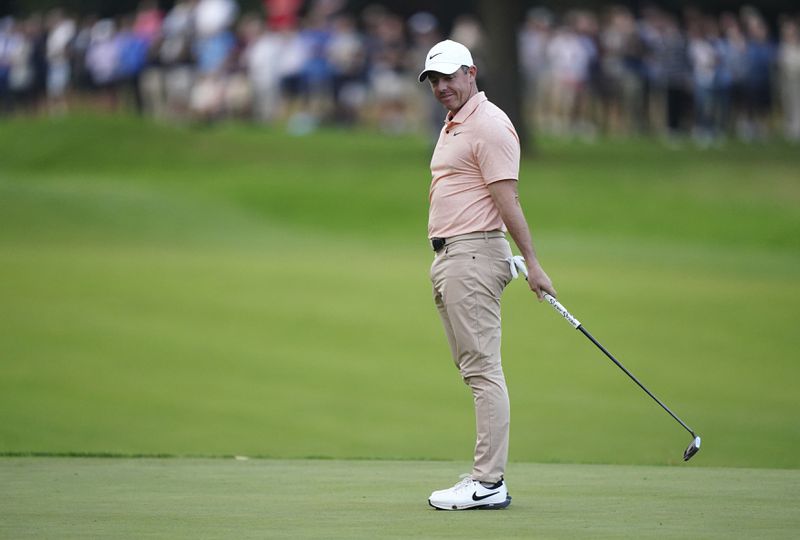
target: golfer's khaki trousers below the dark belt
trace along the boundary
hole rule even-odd
[[[459,240],[431,266],[433,297],[447,341],[475,403],[472,477],[497,482],[508,461],[509,402],[500,360],[500,296],[511,281],[504,237]]]

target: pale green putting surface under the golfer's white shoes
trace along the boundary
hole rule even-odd
[[[469,464],[0,460],[0,538],[796,538],[800,472],[514,464],[507,510],[427,506]]]

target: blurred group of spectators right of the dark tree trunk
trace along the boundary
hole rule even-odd
[[[772,36],[753,7],[679,18],[609,6],[560,22],[534,9],[520,33],[529,108],[555,133],[800,141],[800,21],[777,22]]]

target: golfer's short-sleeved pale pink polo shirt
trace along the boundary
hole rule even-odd
[[[487,186],[517,180],[519,158],[511,120],[483,92],[448,113],[431,158],[428,238],[505,231]]]

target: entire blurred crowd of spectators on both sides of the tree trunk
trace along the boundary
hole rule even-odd
[[[61,9],[0,19],[0,116],[70,107],[133,108],[169,120],[241,118],[303,134],[321,124],[390,133],[438,131],[441,108],[416,82],[425,52],[449,37],[467,45],[479,86],[480,20],[447,34],[432,14],[405,18],[345,0],[143,0],[110,19]],[[531,9],[518,34],[525,114],[539,132],[800,141],[800,20],[756,8],[680,14],[620,5]],[[486,74],[491,72],[491,78]],[[483,77],[481,77],[483,75]],[[491,97],[491,95],[490,95]]]

